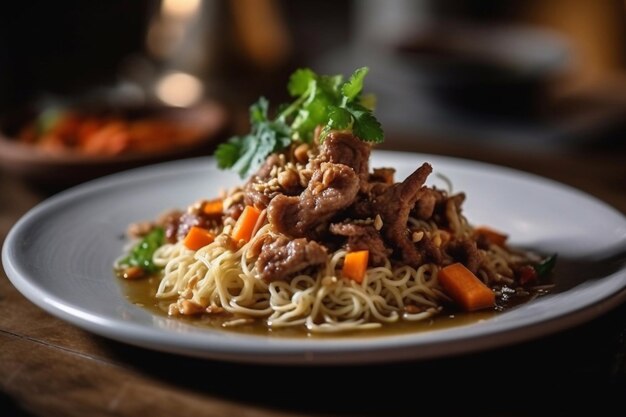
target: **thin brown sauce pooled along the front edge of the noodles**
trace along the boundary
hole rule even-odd
[[[167,310],[172,303],[171,299],[158,300],[154,297],[156,289],[160,282],[160,277],[154,276],[140,280],[124,280],[116,278],[120,282],[122,292],[129,302],[139,307],[145,308],[153,314],[167,317]],[[370,330],[360,330],[341,333],[309,333],[304,326],[294,326],[288,328],[271,329],[265,324],[264,320],[257,319],[252,323],[238,326],[223,326],[226,321],[233,320],[230,314],[214,314],[202,316],[177,316],[171,320],[182,320],[185,323],[212,329],[220,329],[223,331],[255,334],[260,336],[271,337],[291,337],[291,338],[344,338],[344,337],[380,337],[406,333],[415,333],[422,331],[431,331],[437,329],[446,329],[454,326],[465,326],[477,323],[481,320],[490,319],[502,311],[513,306],[522,304],[539,293],[528,295],[526,297],[516,296],[509,299],[506,304],[499,301],[499,305],[494,309],[481,310],[476,312],[461,312],[444,310],[435,317],[428,318],[417,322],[399,320],[396,323],[386,323],[380,328]]]

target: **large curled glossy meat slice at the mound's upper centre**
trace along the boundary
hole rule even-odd
[[[272,199],[268,220],[279,233],[314,239],[333,216],[353,203],[358,191],[359,179],[352,168],[324,162],[299,196],[278,194]]]

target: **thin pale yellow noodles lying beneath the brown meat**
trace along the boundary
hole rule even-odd
[[[446,210],[456,219],[451,224],[454,232],[472,232],[454,205],[448,204]],[[410,218],[409,223],[435,240],[449,233],[434,222]],[[227,322],[229,326],[246,324],[248,318],[256,317],[271,328],[305,326],[311,332],[371,329],[399,320],[426,320],[450,301],[438,285],[437,264],[425,263],[415,269],[408,265],[393,267],[387,261],[368,269],[359,284],[341,277],[340,265],[347,253],[344,249],[330,254],[325,265],[310,274],[299,274],[288,282],[266,283],[257,277],[252,252],[259,241],[272,235],[266,224],[236,251],[227,249],[219,238],[198,251],[185,248],[180,241],[163,245],[154,254],[155,264],[163,267],[156,297],[171,299],[174,304],[189,299],[203,308],[221,307],[235,316]],[[510,284],[509,264],[520,256],[491,245],[478,276],[488,285]]]

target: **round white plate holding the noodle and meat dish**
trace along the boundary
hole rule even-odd
[[[120,236],[131,222],[183,208],[239,182],[210,158],[135,169],[56,195],[15,224],[2,260],[19,291],[76,326],[150,349],[257,363],[363,363],[467,353],[579,324],[626,298],[621,213],[570,187],[493,165],[375,152],[371,166],[393,166],[400,179],[423,161],[449,178],[455,191],[466,193],[470,222],[507,231],[512,244],[558,252],[565,269],[577,274],[575,281],[565,276],[562,292],[474,324],[369,338],[244,335],[154,315],[128,302],[113,276]],[[435,175],[429,182],[444,186]]]

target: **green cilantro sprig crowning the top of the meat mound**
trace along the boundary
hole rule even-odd
[[[287,84],[294,98],[269,116],[269,102],[261,97],[250,107],[250,133],[234,136],[218,146],[218,167],[233,169],[242,178],[254,173],[271,153],[292,142],[310,143],[317,126],[323,140],[331,130],[351,130],[366,142],[384,140],[373,114],[373,96],[362,94],[369,69],[359,68],[344,82],[342,75],[318,75],[309,68],[296,70]]]

